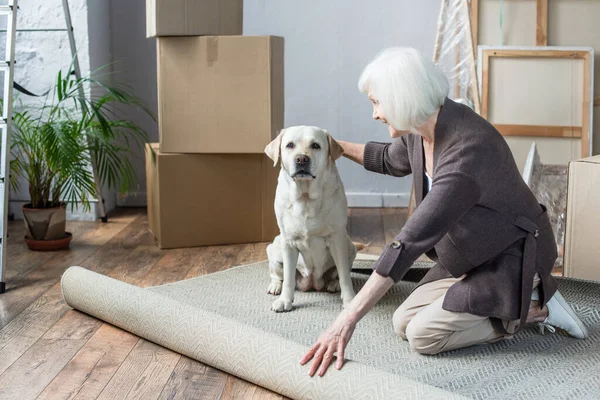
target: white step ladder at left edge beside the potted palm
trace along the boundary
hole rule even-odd
[[[0,70],[4,73],[4,102],[2,116],[0,118],[0,130],[2,131],[1,149],[0,149],[0,293],[6,291],[6,237],[8,226],[8,194],[10,192],[9,173],[10,173],[10,135],[12,129],[13,113],[13,85],[15,72],[15,38],[16,32],[50,32],[65,31],[69,36],[69,45],[73,59],[73,72],[77,79],[81,78],[81,69],[77,57],[77,48],[75,46],[75,36],[73,34],[73,24],[71,22],[71,12],[69,10],[68,0],[62,0],[63,12],[65,15],[65,29],[17,29],[17,10],[19,8],[18,0],[8,0],[7,5],[0,6],[0,16],[6,15],[6,54],[4,62],[0,62]],[[82,87],[79,87],[79,95],[84,97]],[[96,198],[98,199],[98,209],[102,222],[107,222],[106,211],[104,209],[104,199],[102,198],[100,181],[97,168],[92,160],[92,171],[96,183]]]

